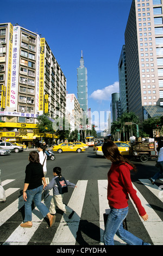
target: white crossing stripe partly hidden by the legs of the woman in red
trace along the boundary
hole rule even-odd
[[[101,245],[104,245],[103,234],[104,234],[104,217],[103,214],[109,214],[110,208],[107,199],[107,187],[108,180],[98,180],[98,194],[99,194],[99,227],[101,236]],[[114,236],[115,245],[126,245],[124,241],[117,235]]]

